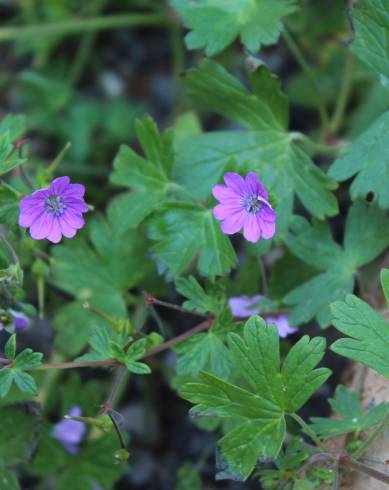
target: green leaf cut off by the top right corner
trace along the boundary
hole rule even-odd
[[[353,4],[352,20],[355,30],[352,51],[389,86],[389,2],[388,0],[359,0]]]

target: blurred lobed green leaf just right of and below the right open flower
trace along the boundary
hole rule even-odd
[[[355,273],[375,259],[389,244],[389,222],[372,204],[354,203],[348,213],[343,247],[335,243],[328,225],[303,218],[292,222],[286,244],[294,255],[322,271],[297,286],[284,298],[293,309],[291,324],[316,317],[321,327],[331,323],[329,305],[354,289]]]

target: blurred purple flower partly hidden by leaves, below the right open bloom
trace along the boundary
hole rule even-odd
[[[236,318],[248,318],[252,315],[258,315],[261,312],[258,302],[266,299],[265,296],[257,294],[256,296],[235,296],[228,300],[232,314]],[[291,327],[286,315],[268,316],[266,318],[268,325],[274,324],[278,329],[278,335],[285,338],[288,335],[297,332],[297,329]]]

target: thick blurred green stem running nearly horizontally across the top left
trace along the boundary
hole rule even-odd
[[[98,16],[84,19],[70,19],[60,22],[49,22],[26,27],[0,28],[0,42],[34,37],[58,36],[95,32],[121,27],[169,25],[171,21],[166,15],[154,13],[118,14],[110,16]]]

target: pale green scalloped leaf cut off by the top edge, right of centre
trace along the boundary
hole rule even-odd
[[[275,44],[282,30],[281,18],[294,12],[294,0],[171,0],[182,15],[188,49],[205,48],[213,56],[238,36],[251,52]]]

